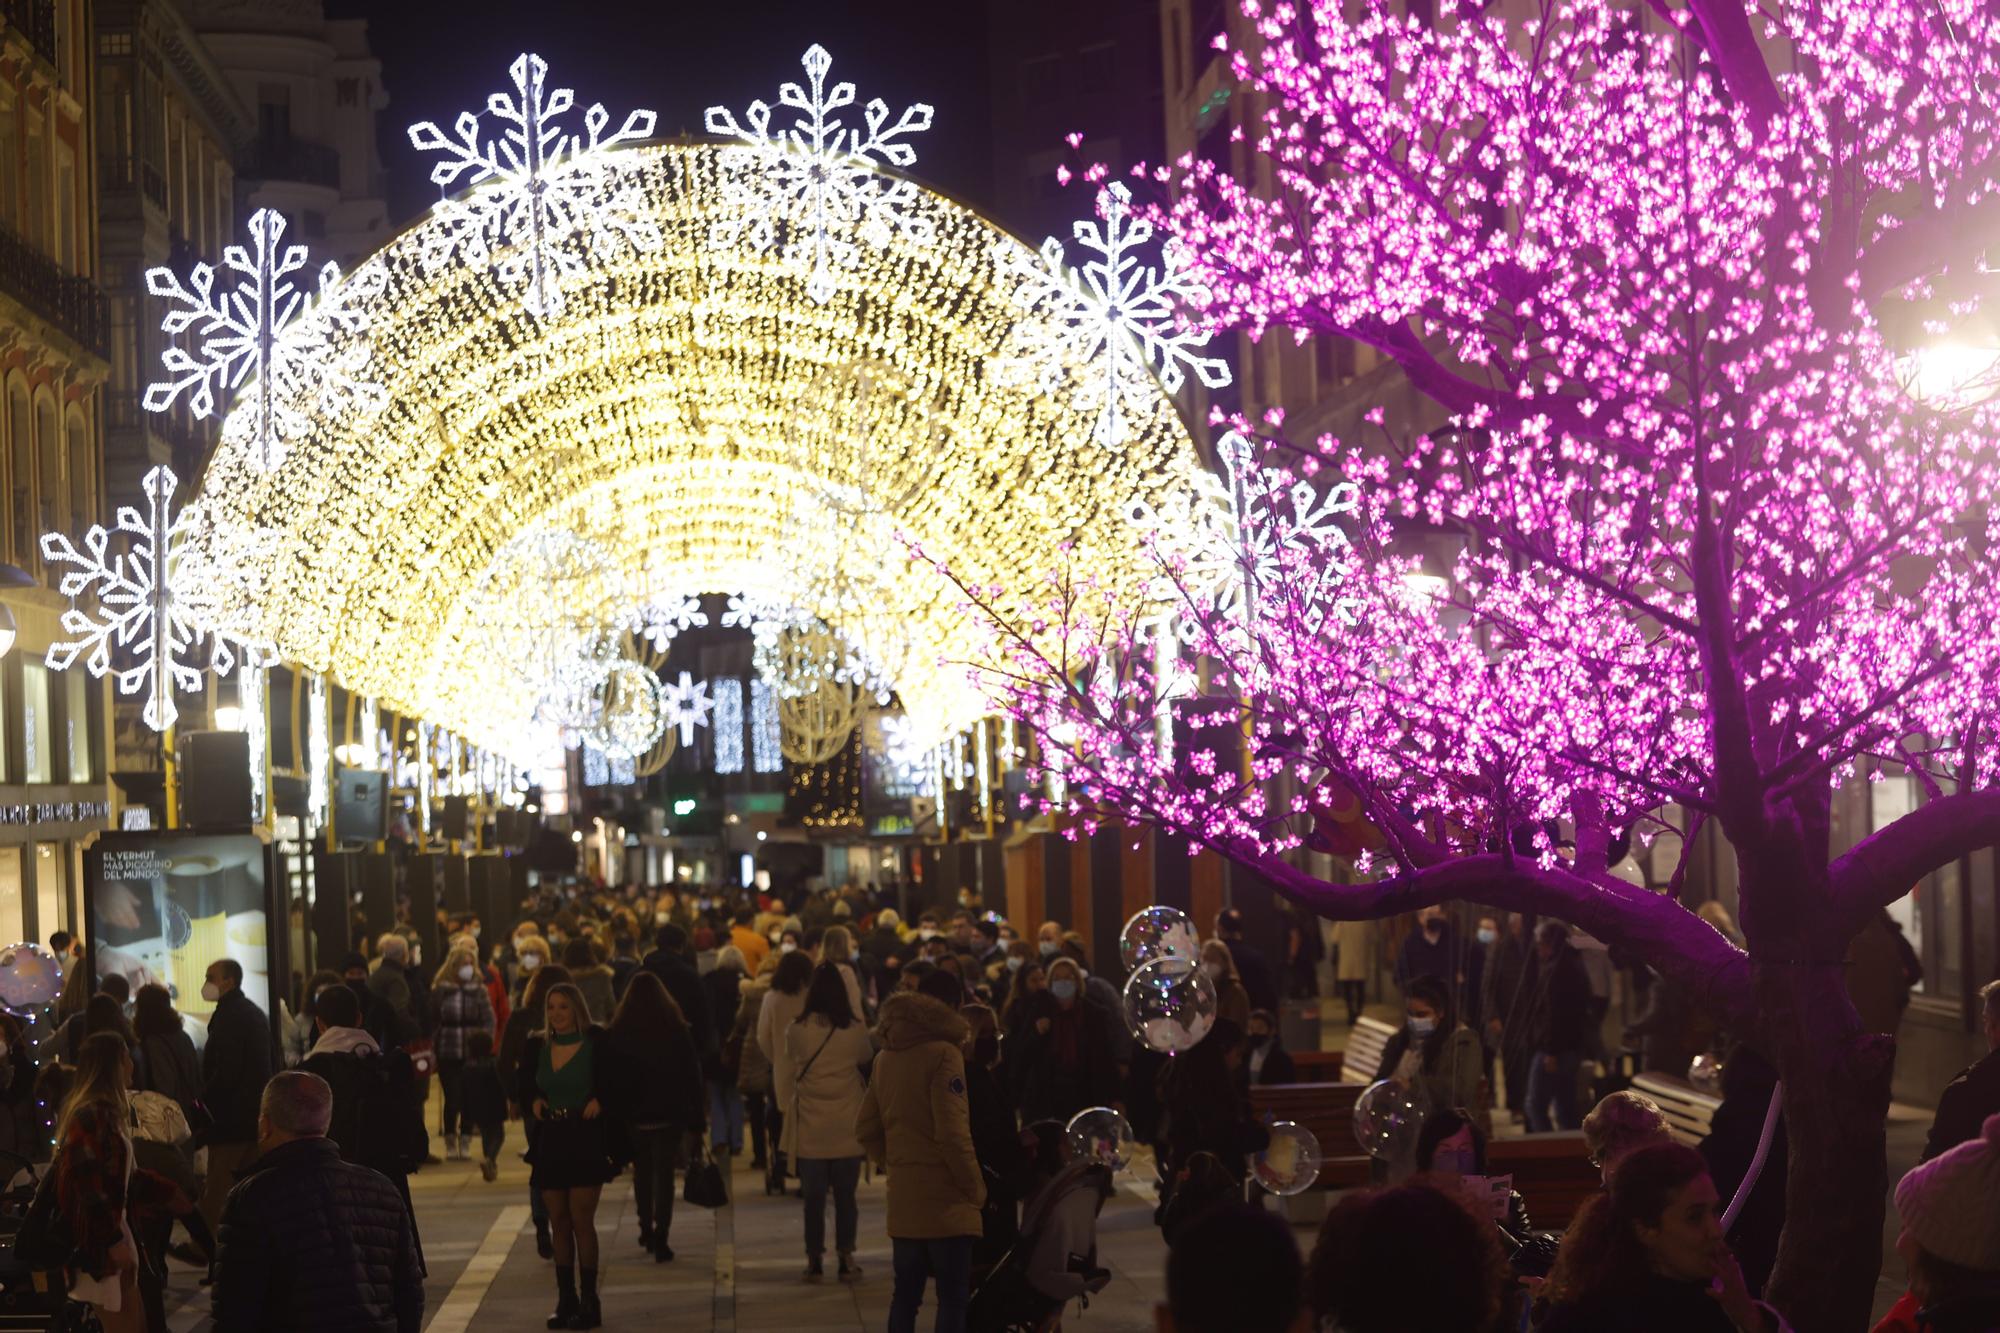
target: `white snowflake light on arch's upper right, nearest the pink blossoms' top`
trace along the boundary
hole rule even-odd
[[[1076,224],[1076,242],[1094,258],[1072,268],[1062,242],[1050,236],[1036,252],[1016,244],[994,248],[1002,276],[1018,280],[1014,304],[1044,314],[1024,322],[1018,356],[1002,362],[1014,374],[1032,374],[1044,394],[1060,392],[1074,376],[1072,404],[1094,410],[1100,446],[1124,448],[1124,418],[1146,410],[1148,376],[1178,394],[1188,372],[1206,388],[1224,388],[1230,368],[1220,356],[1202,356],[1210,334],[1184,328],[1178,310],[1202,304],[1208,288],[1186,272],[1180,246],[1160,246],[1160,264],[1142,264],[1136,250],[1152,240],[1152,222],[1132,216],[1132,192],[1112,182],[1098,192],[1096,220]],[[1076,366],[1090,366],[1078,374]]]

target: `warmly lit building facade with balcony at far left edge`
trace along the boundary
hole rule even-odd
[[[0,945],[78,923],[80,841],[110,813],[104,689],[42,660],[64,600],[40,534],[102,512],[92,10],[0,6]]]

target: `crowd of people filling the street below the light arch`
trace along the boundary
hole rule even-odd
[[[1418,913],[1392,963],[1404,1021],[1374,1075],[1428,1115],[1302,1259],[1290,1225],[1242,1205],[1268,1143],[1252,1089],[1298,1077],[1278,1041],[1280,987],[1312,987],[1298,933],[1272,967],[1242,917],[1218,913],[1200,949],[1214,1023],[1166,1059],[1134,1041],[1122,977],[1062,923],[1030,933],[968,899],[904,921],[894,901],[544,891],[500,941],[442,917],[436,971],[402,923],[296,983],[276,1065],[236,963],[208,967],[210,1013],[190,1025],[164,987],[92,985],[80,947],[52,941],[70,973],[40,1049],[0,1017],[4,1125],[24,1155],[52,1153],[72,1295],[112,1333],[166,1327],[170,1253],[208,1265],[220,1329],[416,1329],[410,1175],[476,1161],[496,1181],[510,1145],[530,1165],[552,1329],[602,1323],[598,1203],[624,1171],[654,1263],[674,1259],[680,1173],[692,1201],[694,1173],[732,1197],[742,1167],[748,1189],[796,1201],[804,1281],[860,1281],[870,1163],[888,1185],[892,1333],[926,1301],[940,1331],[1056,1329],[1110,1279],[1096,1215],[1112,1173],[1064,1133],[1092,1107],[1154,1151],[1162,1329],[1788,1329],[1760,1299],[1784,1223],[1782,1117],[1722,1223],[1776,1075],[1730,1051],[1700,1151],[1646,1097],[1592,1095],[1580,1073],[1614,1069],[1594,1045],[1604,987],[1560,923],[1486,917],[1458,941],[1446,911]],[[1334,933],[1336,977],[1360,939]],[[2000,1317],[2000,983],[1982,1005],[1994,1055],[1948,1089],[1924,1165],[1896,1189],[1910,1291],[1882,1333],[1988,1333]],[[1650,1037],[1686,1041],[1664,1023]],[[1496,1213],[1472,1203],[1496,1113],[1582,1131],[1602,1191],[1560,1235],[1536,1231],[1520,1195]]]

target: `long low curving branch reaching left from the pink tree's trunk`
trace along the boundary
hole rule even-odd
[[[1280,857],[1236,843],[1210,843],[1236,865],[1268,879],[1278,893],[1328,921],[1372,921],[1446,899],[1514,913],[1550,915],[1630,949],[1686,985],[1694,1001],[1738,1027],[1754,1027],[1750,959],[1674,899],[1610,875],[1544,871],[1500,855],[1454,857],[1422,871],[1368,885],[1332,885]]]

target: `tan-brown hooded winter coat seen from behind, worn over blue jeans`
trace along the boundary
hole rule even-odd
[[[966,1021],[928,995],[882,1001],[874,1077],[856,1137],[886,1163],[888,1233],[900,1241],[980,1235],[986,1183],[972,1151]]]

